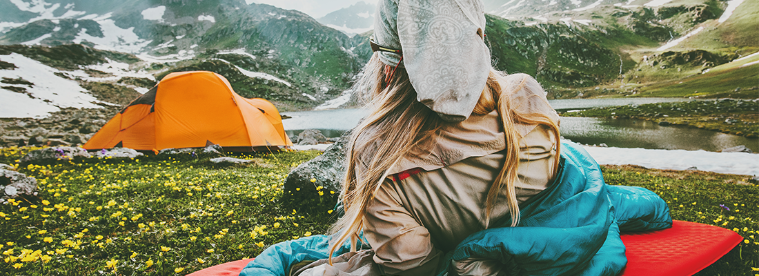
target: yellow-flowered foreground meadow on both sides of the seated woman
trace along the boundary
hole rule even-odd
[[[28,150],[0,149],[0,163],[13,164]],[[187,274],[257,256],[283,240],[323,234],[335,219],[331,206],[307,213],[306,206],[284,207],[282,198],[288,171],[318,154],[247,155],[255,162],[245,166],[153,156],[20,167],[36,177],[40,191],[0,205],[0,274]],[[747,177],[619,166],[603,172],[608,183],[657,192],[675,219],[745,237],[702,274],[754,274],[759,187]]]

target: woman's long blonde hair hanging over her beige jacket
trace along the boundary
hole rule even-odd
[[[519,165],[519,139],[514,124],[542,124],[554,137],[559,137],[556,121],[542,113],[520,114],[512,106],[510,91],[502,91],[505,74],[491,69],[474,114],[488,114],[498,110],[505,133],[505,163],[487,194],[486,225],[490,222],[493,204],[505,185],[506,200],[512,218],[512,227],[519,222],[519,205],[514,183]],[[375,54],[364,67],[354,89],[366,95],[366,108],[370,114],[354,128],[348,145],[346,161],[348,171],[342,185],[342,203],[345,215],[330,229],[333,235],[329,247],[332,254],[345,240],[351,240],[355,250],[359,234],[364,227],[364,215],[373,194],[389,177],[388,170],[404,157],[417,143],[434,136],[446,123],[424,104],[417,102],[417,94],[403,67],[389,67]],[[503,93],[502,93],[503,92]],[[541,98],[542,99],[542,98]],[[556,143],[559,151],[559,143]],[[553,175],[556,175],[559,158],[555,158]],[[357,169],[357,167],[361,167]]]

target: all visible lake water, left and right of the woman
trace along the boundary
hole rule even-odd
[[[561,99],[551,100],[557,110],[584,109],[601,106],[642,105],[655,102],[682,102],[689,99],[634,98],[634,99]],[[340,136],[355,127],[367,114],[363,109],[334,109],[324,111],[282,112],[291,118],[282,121],[288,135],[305,129],[322,130],[325,136]],[[660,127],[651,121],[604,118],[561,118],[560,132],[577,143],[620,148],[685,149],[716,151],[745,145],[759,152],[759,139],[717,133],[688,127]]]

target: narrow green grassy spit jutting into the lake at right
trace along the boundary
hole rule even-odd
[[[710,100],[668,102],[647,105],[622,105],[565,112],[566,117],[638,118],[759,137],[759,102],[744,100]],[[666,123],[661,123],[666,122]]]

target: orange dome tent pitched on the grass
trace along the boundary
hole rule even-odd
[[[82,147],[161,150],[209,144],[248,151],[292,146],[271,102],[239,96],[222,75],[191,71],[168,74]]]

